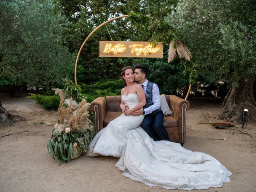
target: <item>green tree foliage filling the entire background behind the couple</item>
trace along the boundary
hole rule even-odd
[[[150,69],[148,79],[158,84],[161,93],[186,92],[191,79],[207,85],[209,92],[218,91],[220,80],[226,87],[241,74],[255,72],[255,19],[248,19],[255,18],[255,12],[250,2],[1,1],[0,89],[64,88],[64,78],[74,81],[75,58],[88,34],[110,18],[130,14],[100,28],[82,50],[77,80],[88,100],[119,94],[121,68],[135,64]],[[197,10],[194,14],[193,8]],[[161,41],[164,58],[100,58],[99,40]],[[182,40],[192,51],[192,62],[177,58],[168,64],[170,40]]]

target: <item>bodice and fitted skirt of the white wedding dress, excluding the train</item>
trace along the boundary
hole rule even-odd
[[[133,108],[139,102],[137,94],[133,93],[127,96],[122,95],[122,100],[129,108]],[[120,115],[96,134],[88,147],[86,156],[104,155],[120,157],[127,141],[127,132],[140,126],[143,118],[144,115],[136,117]]]

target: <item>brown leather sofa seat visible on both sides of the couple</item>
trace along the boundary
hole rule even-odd
[[[106,127],[110,121],[120,116],[122,112],[108,111],[103,120],[103,127]],[[164,127],[178,127],[178,121],[173,116],[164,116]]]

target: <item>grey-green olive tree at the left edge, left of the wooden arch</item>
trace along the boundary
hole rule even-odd
[[[14,86],[43,88],[61,82],[74,62],[63,46],[66,22],[50,0],[0,1],[0,76]],[[0,123],[5,121],[0,116]]]

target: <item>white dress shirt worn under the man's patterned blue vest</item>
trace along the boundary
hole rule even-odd
[[[145,94],[146,94],[147,84],[148,84],[148,80],[146,79],[146,81],[144,81],[144,83],[142,84],[144,86],[143,89]],[[153,105],[144,109],[145,115],[150,114],[154,110],[157,110],[160,108],[160,91],[157,84],[155,83],[153,84],[152,94],[153,94],[153,98],[152,98]]]

